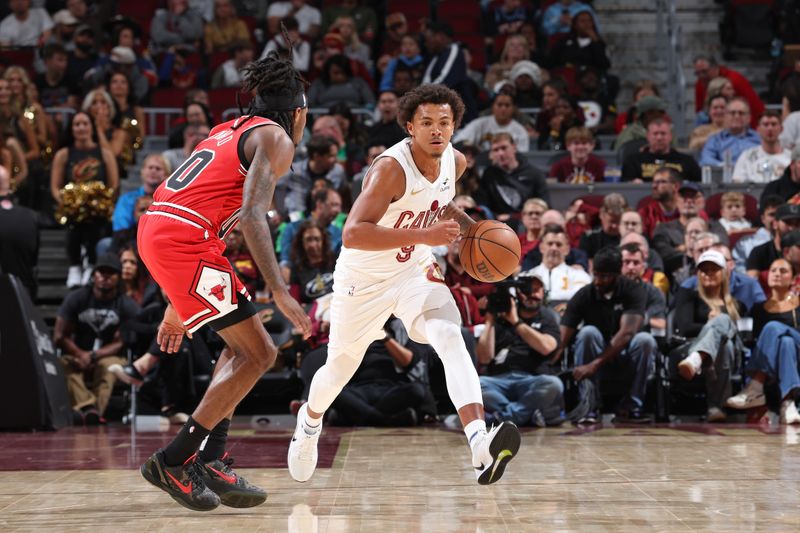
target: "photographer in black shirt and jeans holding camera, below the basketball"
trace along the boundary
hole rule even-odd
[[[516,288],[517,297],[509,288]],[[559,346],[558,315],[544,307],[544,283],[536,275],[498,285],[489,296],[478,362],[486,413],[518,426],[561,423],[564,386],[547,357]]]

